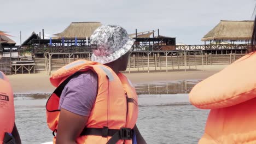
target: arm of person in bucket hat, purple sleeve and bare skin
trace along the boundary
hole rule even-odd
[[[70,80],[60,97],[56,143],[75,143],[88,122],[97,95],[98,77],[86,71]]]

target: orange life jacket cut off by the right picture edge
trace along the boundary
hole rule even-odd
[[[211,109],[199,143],[256,143],[256,53],[198,83],[191,104]]]

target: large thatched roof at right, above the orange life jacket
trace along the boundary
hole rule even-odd
[[[245,41],[252,38],[254,21],[220,21],[208,32],[202,41],[209,40],[236,40]]]

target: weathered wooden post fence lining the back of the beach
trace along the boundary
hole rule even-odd
[[[35,58],[36,71],[52,71],[78,59],[91,59],[91,52],[44,53],[44,58]],[[200,65],[231,64],[246,53],[225,53],[222,55],[202,50],[191,51],[131,51],[125,73],[172,71],[197,69]]]

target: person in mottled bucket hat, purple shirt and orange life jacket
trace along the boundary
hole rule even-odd
[[[92,61],[78,60],[50,77],[46,104],[54,143],[146,143],[136,127],[138,98],[126,70],[131,39],[124,28],[101,26],[90,37]]]

